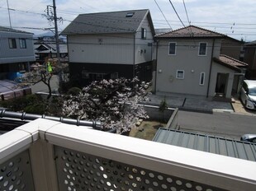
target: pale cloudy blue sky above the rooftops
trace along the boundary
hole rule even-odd
[[[44,30],[30,30],[22,27],[49,28],[50,23],[41,14],[52,0],[8,0],[12,27],[35,34]],[[57,14],[64,19],[59,22],[59,30],[69,25],[70,21],[81,13],[112,12],[134,9],[149,9],[155,28],[169,28],[167,21],[159,11],[159,4],[164,16],[173,30],[183,27],[168,0],[56,0]],[[183,0],[173,0],[178,15],[185,26],[188,25]],[[255,0],[184,0],[189,21],[192,25],[230,35],[240,40],[256,40],[256,1]],[[15,11],[14,11],[15,10]],[[0,0],[0,26],[9,26],[7,0]]]

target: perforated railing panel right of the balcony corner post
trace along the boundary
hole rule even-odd
[[[55,147],[55,155],[59,190],[220,190],[63,147]]]

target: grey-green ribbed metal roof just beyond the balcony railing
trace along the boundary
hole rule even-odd
[[[251,142],[240,142],[223,137],[189,133],[167,128],[159,128],[153,141],[248,161],[256,161],[256,144]]]

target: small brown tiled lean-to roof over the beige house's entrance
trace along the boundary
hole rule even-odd
[[[243,63],[235,58],[231,58],[227,55],[223,55],[220,54],[219,58],[213,58],[214,61],[216,61],[216,63],[220,63],[221,65],[233,69],[237,72],[240,72],[241,69],[240,68],[247,68],[248,64],[247,63]]]

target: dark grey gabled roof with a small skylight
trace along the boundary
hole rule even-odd
[[[61,35],[135,33],[146,17],[154,35],[154,26],[148,9],[80,14]]]

